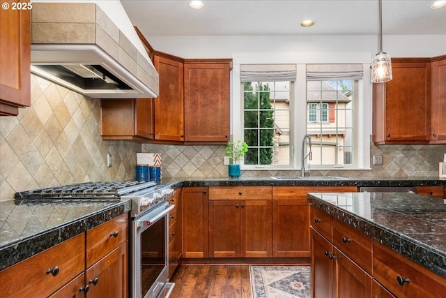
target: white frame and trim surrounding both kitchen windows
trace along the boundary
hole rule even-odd
[[[294,84],[294,99],[290,105],[291,109],[291,127],[295,130],[293,135],[290,135],[290,142],[292,145],[291,155],[293,157],[293,163],[289,168],[274,168],[274,167],[253,167],[251,165],[244,165],[242,161],[242,170],[300,170],[300,147],[302,143],[302,138],[306,134],[306,126],[297,126],[295,124],[296,119],[307,120],[307,90],[306,86],[306,64],[307,63],[334,63],[342,55],[337,54],[321,54],[314,56],[312,53],[308,55],[293,55],[285,54],[278,55],[274,54],[233,54],[233,70],[231,72],[231,137],[233,140],[242,140],[243,137],[243,98],[242,98],[242,88],[240,84],[240,64],[268,64],[268,63],[282,63],[290,64],[295,61],[297,73],[296,80]],[[357,116],[354,117],[353,127],[355,127],[355,164],[349,165],[348,167],[318,167],[314,166],[311,170],[370,170],[370,140],[371,140],[371,75],[370,75],[370,64],[368,61],[369,57],[364,53],[357,53],[352,60],[351,53],[344,54],[345,57],[341,58],[344,63],[361,63],[364,69],[364,77],[362,80],[357,82],[358,96],[355,103],[355,113]],[[277,58],[279,57],[279,59]],[[308,61],[302,61],[300,57],[309,57]],[[321,57],[323,57],[321,59]],[[367,57],[367,59],[364,59]],[[299,88],[303,86],[303,88]],[[300,107],[296,108],[294,105]]]

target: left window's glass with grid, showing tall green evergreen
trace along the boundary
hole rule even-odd
[[[245,165],[290,165],[291,82],[243,83]]]

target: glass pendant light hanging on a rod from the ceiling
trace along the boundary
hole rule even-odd
[[[383,52],[383,0],[379,0],[379,52],[371,61],[371,82],[383,83],[392,80],[392,61]]]

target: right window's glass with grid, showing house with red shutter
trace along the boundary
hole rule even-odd
[[[307,81],[307,134],[312,137],[310,165],[353,163],[353,82]]]

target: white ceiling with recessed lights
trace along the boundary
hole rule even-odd
[[[145,36],[377,35],[378,0],[121,0]],[[383,0],[383,34],[446,34],[446,8],[433,0]],[[313,27],[302,20],[316,21]]]

